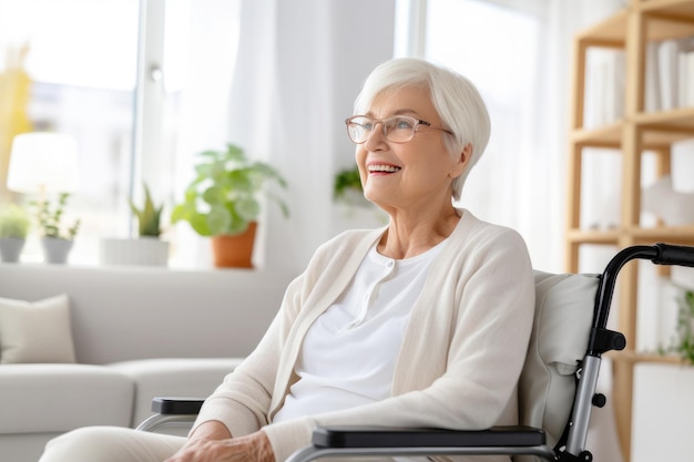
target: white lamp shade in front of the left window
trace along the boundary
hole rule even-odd
[[[60,133],[22,133],[12,140],[8,189],[71,193],[78,187],[78,146]]]

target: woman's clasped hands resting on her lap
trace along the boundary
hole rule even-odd
[[[165,462],[275,462],[275,454],[267,435],[257,431],[224,440],[188,440]]]

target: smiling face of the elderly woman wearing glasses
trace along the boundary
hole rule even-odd
[[[429,92],[408,86],[381,93],[364,114],[374,119],[409,115],[442,127]],[[412,140],[392,143],[386,140],[381,124],[363,144],[356,160],[365,196],[389,212],[450,204],[451,183],[467,164],[468,156],[452,156],[443,143],[445,132],[419,125]]]

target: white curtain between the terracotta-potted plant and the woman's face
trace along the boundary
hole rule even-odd
[[[278,167],[290,218],[268,204],[259,260],[302,270],[338,229],[334,174],[354,163],[344,120],[361,81],[392,55],[394,2],[243,0],[229,140]]]

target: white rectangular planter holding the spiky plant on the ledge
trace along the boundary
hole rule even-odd
[[[101,240],[103,265],[166,266],[169,243],[156,237],[136,239],[105,238]]]

